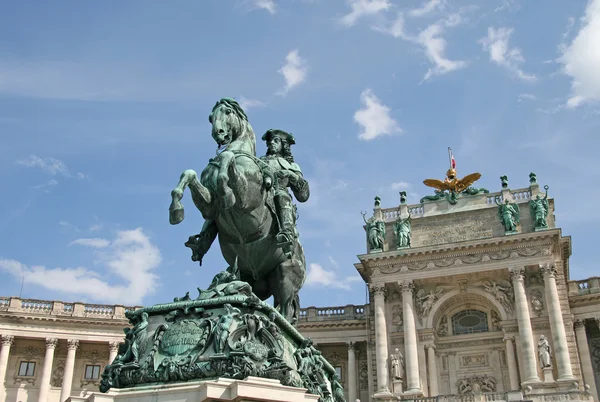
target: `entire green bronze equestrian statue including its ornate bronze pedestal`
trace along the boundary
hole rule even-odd
[[[256,138],[239,104],[221,99],[209,121],[218,145],[200,178],[181,175],[172,191],[169,221],[184,219],[181,199],[188,187],[205,219],[185,243],[192,260],[219,238],[229,264],[207,289],[172,303],[126,313],[131,328],[117,357],[106,366],[100,391],[142,385],[248,376],[303,387],[322,402],[345,402],[334,368],[294,327],[298,292],[306,277],[296,230],[296,200],[310,192],[294,162],[290,133],[268,130],[267,154],[256,157]],[[273,296],[274,306],[264,302]]]

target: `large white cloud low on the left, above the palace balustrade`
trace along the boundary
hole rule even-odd
[[[0,259],[0,271],[24,278],[28,284],[102,303],[141,304],[144,296],[155,290],[158,276],[154,270],[161,255],[142,228],[117,232],[116,238],[96,253],[106,272],[85,267],[29,267],[10,259]],[[121,284],[109,278],[118,278]]]

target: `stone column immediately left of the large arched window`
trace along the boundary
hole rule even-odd
[[[412,281],[404,281],[402,285],[402,314],[404,315],[404,360],[406,363],[406,393],[420,394],[419,383],[419,350],[417,345],[417,327],[413,302]]]

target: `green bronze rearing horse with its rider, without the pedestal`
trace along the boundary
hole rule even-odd
[[[256,135],[236,100],[219,100],[208,120],[217,155],[208,161],[200,178],[194,170],[182,173],[171,192],[169,222],[183,221],[181,199],[188,187],[205,219],[201,233],[186,243],[192,259],[201,261],[218,234],[223,258],[230,266],[238,262],[240,279],[261,300],[273,296],[275,307],[294,323],[299,317],[298,292],[306,278],[306,261],[291,196],[284,193],[290,188],[298,202],[310,196],[291,155],[295,139],[281,130],[269,130],[263,136],[270,143],[267,155],[257,158]]]

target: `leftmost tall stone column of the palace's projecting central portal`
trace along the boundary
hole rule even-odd
[[[377,360],[377,394],[390,393],[388,385],[387,325],[385,323],[385,285],[371,288],[375,304],[375,359]]]

